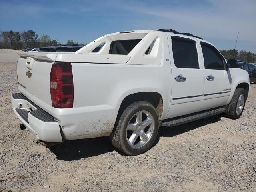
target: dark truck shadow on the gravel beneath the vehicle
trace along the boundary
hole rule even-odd
[[[160,137],[173,137],[220,120],[221,116],[216,115],[175,127],[160,127],[154,145],[158,143]],[[58,160],[64,161],[74,161],[81,158],[98,156],[115,150],[108,137],[66,140],[62,144],[49,147],[49,149],[57,156],[56,158]]]

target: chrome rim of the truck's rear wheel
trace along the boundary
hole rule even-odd
[[[126,128],[126,140],[132,148],[141,148],[151,138],[155,128],[152,114],[139,111],[130,119]]]

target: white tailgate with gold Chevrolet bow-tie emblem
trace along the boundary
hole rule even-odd
[[[50,72],[57,54],[18,52],[19,91],[43,110],[52,114]]]

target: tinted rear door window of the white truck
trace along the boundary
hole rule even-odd
[[[172,36],[172,53],[176,67],[199,69],[196,42],[194,40]]]

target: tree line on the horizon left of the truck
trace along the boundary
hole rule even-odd
[[[50,36],[42,34],[38,37],[33,30],[27,31],[2,31],[0,32],[0,48],[2,49],[24,49],[24,48],[40,48],[44,46],[60,46],[62,45],[55,39],[51,39]],[[66,45],[80,45],[84,46],[83,43],[74,42],[68,40]]]

